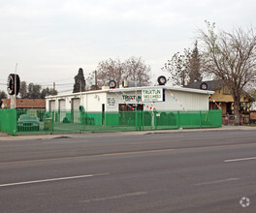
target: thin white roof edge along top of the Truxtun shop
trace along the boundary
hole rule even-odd
[[[85,94],[112,93],[112,92],[115,93],[115,92],[120,92],[120,91],[130,92],[130,91],[141,91],[144,89],[167,89],[167,90],[172,90],[172,91],[199,93],[199,94],[208,94],[208,95],[211,95],[214,93],[214,91],[210,91],[210,90],[193,89],[193,88],[179,87],[179,86],[166,86],[166,85],[160,86],[159,85],[159,86],[122,87],[122,88],[114,88],[114,89],[91,90],[91,91],[64,94],[64,95],[47,96],[46,99],[76,97],[76,96],[79,98],[80,95],[85,95]]]

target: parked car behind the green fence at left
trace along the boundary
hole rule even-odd
[[[33,114],[22,114],[17,120],[17,131],[39,131],[39,118]]]

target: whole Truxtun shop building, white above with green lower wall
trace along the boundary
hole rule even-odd
[[[208,98],[213,93],[166,85],[104,87],[102,90],[48,96],[46,108],[48,116],[59,124],[128,125],[143,130],[156,126],[169,129],[219,127],[221,116],[219,119],[215,115],[221,115],[221,111],[208,111]],[[135,113],[131,113],[133,111]]]

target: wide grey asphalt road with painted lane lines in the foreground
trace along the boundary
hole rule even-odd
[[[1,213],[256,212],[255,180],[255,131],[0,141]]]

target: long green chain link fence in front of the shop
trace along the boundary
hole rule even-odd
[[[0,119],[0,131],[14,136],[33,133],[117,132],[222,126],[220,109],[117,112],[2,109]]]

